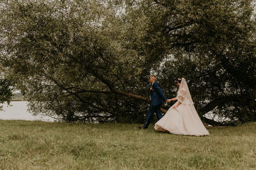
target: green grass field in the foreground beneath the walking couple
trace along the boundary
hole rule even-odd
[[[0,169],[256,169],[256,122],[180,136],[137,124],[0,120]]]

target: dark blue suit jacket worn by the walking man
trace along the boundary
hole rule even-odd
[[[150,98],[151,98],[151,103],[153,104],[153,106],[157,106],[159,104],[163,104],[164,101],[167,100],[167,98],[164,96],[164,92],[161,89],[161,87],[159,86],[159,84],[154,81],[153,85],[152,85],[152,89],[150,90]]]

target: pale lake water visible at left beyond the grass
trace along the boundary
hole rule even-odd
[[[3,111],[0,111],[2,120],[41,120],[53,122],[55,119],[47,116],[36,115],[28,111],[27,101],[12,101],[11,105],[3,104]]]

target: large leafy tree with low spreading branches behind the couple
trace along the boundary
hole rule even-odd
[[[255,120],[252,3],[2,1],[0,59],[31,110],[65,121],[143,122],[151,73],[168,97],[189,80],[201,117]]]

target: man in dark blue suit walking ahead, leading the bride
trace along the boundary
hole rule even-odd
[[[159,86],[159,84],[156,82],[156,76],[152,75],[149,77],[150,83],[152,83],[152,86],[150,88],[150,106],[148,109],[148,115],[146,118],[146,122],[143,126],[140,126],[140,129],[147,129],[148,125],[150,124],[150,120],[153,116],[154,113],[156,113],[156,116],[158,120],[162,118],[163,116],[161,115],[161,105],[164,103],[164,101],[168,102],[166,97],[164,96],[164,92]]]

